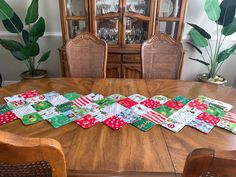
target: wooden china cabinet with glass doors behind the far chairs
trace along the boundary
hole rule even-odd
[[[59,1],[64,44],[84,31],[105,40],[110,78],[141,78],[141,44],[158,31],[182,37],[187,0]],[[59,51],[67,76],[64,46]]]

